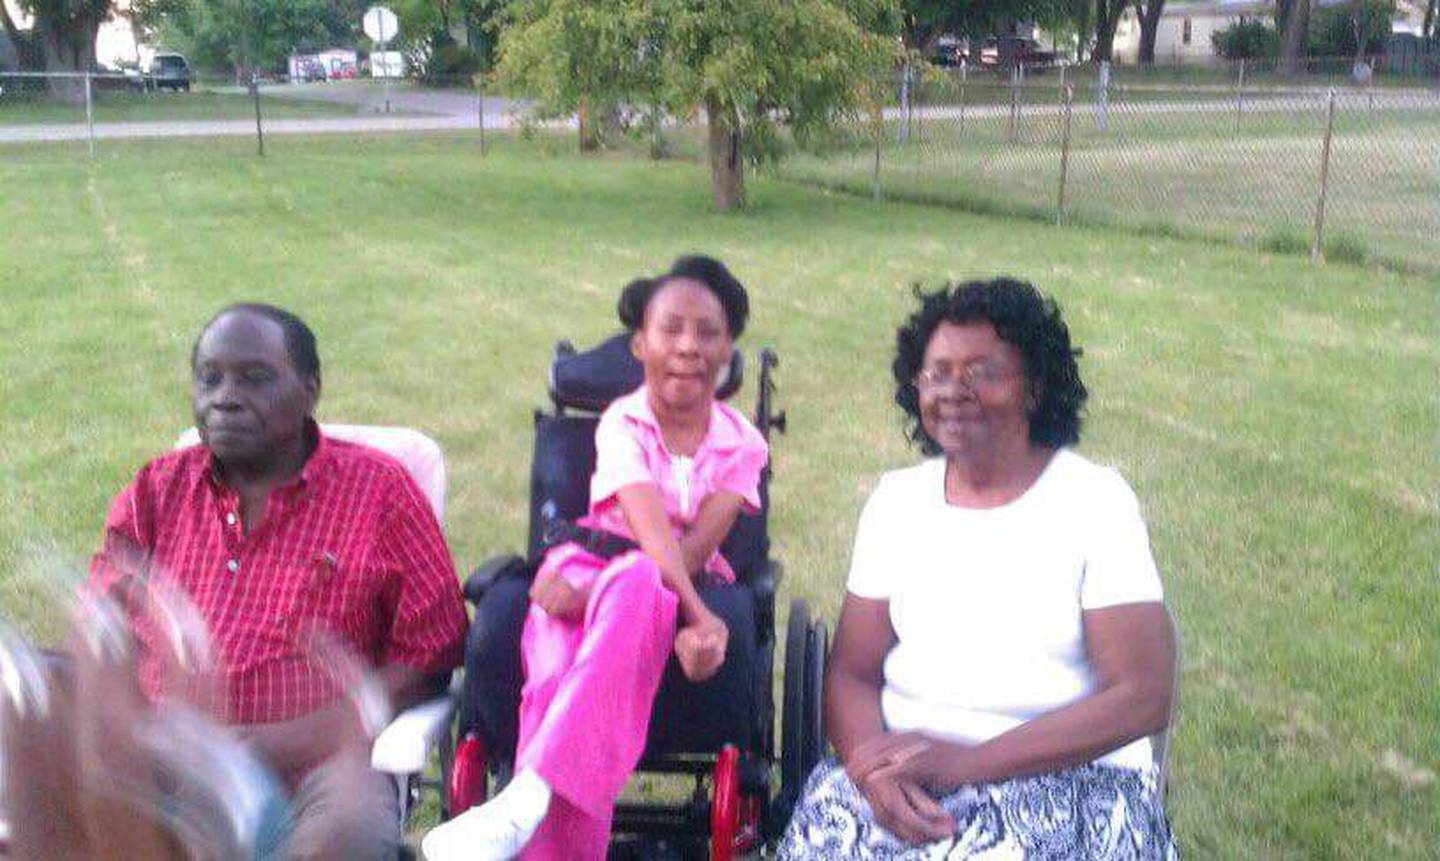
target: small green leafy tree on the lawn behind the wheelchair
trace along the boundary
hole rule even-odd
[[[720,210],[744,206],[744,163],[775,151],[779,127],[806,140],[877,105],[896,40],[887,0],[518,0],[500,73],[552,112],[655,102],[703,109]]]

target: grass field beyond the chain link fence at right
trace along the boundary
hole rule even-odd
[[[975,88],[971,88],[975,89]],[[994,88],[989,91],[995,95]],[[1004,104],[922,112],[900,143],[886,124],[880,186],[888,196],[1054,219],[1063,115],[1054,92],[1028,89],[1012,121]],[[1188,109],[1115,98],[1104,128],[1093,101],[1071,109],[1066,212],[1071,220],[1253,246],[1309,249],[1319,196],[1325,104],[1289,99],[1238,117],[1224,99],[1188,94]],[[1218,108],[1218,109],[1217,109]],[[783,176],[870,193],[874,132],[857,128]],[[1336,105],[1326,248],[1351,261],[1440,272],[1440,102],[1369,109]]]

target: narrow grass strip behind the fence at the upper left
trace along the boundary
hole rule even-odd
[[[354,117],[350,105],[298,101],[265,95],[261,111],[272,120],[307,117]],[[98,92],[95,122],[173,122],[207,120],[253,120],[255,101],[243,94],[210,92]],[[39,96],[0,96],[0,127],[85,122],[85,105],[53,104]]]

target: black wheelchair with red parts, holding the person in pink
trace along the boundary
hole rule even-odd
[[[773,409],[776,364],[773,351],[759,354],[753,420],[766,441],[772,430],[785,430],[785,415]],[[717,397],[733,396],[742,377],[743,354],[734,351]],[[553,518],[573,520],[588,511],[599,413],[641,382],[628,334],[583,353],[567,341],[556,346],[552,409],[534,413],[527,551],[485,562],[464,586],[475,618],[467,642],[458,741],[452,763],[442,763],[442,815],[458,815],[485,801],[491,782],[498,789],[511,776],[523,682],[520,636],[530,580],[546,547],[544,528]],[[730,629],[724,665],[714,678],[696,684],[671,657],[636,769],[690,776],[694,789],[680,803],[622,799],[615,809],[612,857],[654,855],[657,841],[681,854],[708,845],[710,857],[720,861],[759,849],[779,837],[805,777],[821,759],[828,632],[804,600],[791,605],[779,740],[775,733],[775,600],[782,566],[769,556],[769,479],[766,466],[760,511],[742,514],[721,544],[736,583],[700,587]]]

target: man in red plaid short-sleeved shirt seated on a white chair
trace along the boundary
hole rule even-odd
[[[304,642],[317,628],[338,639],[396,710],[444,690],[467,616],[439,524],[399,462],[320,432],[315,338],[292,314],[226,308],[190,364],[202,445],[121,491],[91,582],[167,577],[194,603],[223,717],[294,793],[292,857],[393,858],[395,786],[369,769],[354,707]],[[145,648],[138,671],[151,698],[166,693]]]

